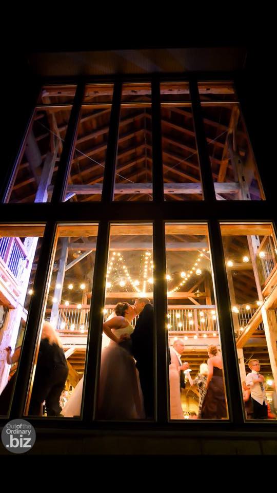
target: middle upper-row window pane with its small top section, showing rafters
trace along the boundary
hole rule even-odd
[[[114,200],[152,200],[150,84],[124,84],[122,103]]]

